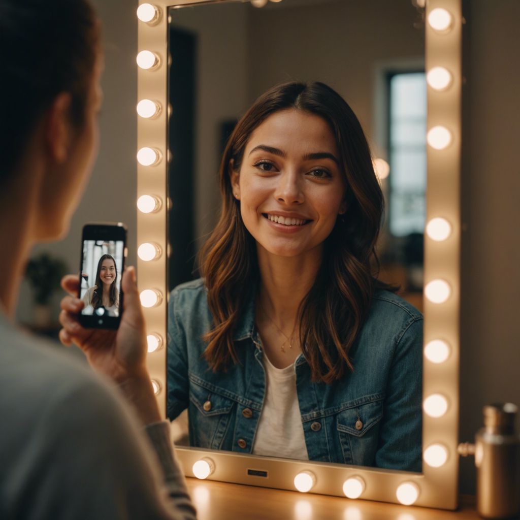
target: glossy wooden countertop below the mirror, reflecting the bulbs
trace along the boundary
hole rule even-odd
[[[476,520],[474,497],[459,511],[349,500],[187,478],[199,520]]]

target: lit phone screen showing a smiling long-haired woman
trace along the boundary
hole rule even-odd
[[[119,317],[124,242],[84,240],[80,297],[84,316]]]

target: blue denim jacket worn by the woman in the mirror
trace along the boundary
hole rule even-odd
[[[353,372],[313,382],[295,363],[309,460],[421,471],[422,315],[399,296],[375,291],[350,350]],[[265,396],[254,294],[234,341],[239,363],[213,372],[202,357],[212,327],[202,279],[175,288],[168,304],[167,414],[188,408],[190,445],[251,453]]]

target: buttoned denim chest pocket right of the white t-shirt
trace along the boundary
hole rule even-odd
[[[362,405],[346,408],[336,415],[337,434],[345,464],[373,466],[383,417],[381,394],[357,399]]]

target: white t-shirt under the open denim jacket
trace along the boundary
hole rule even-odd
[[[296,394],[294,363],[276,368],[264,352],[266,374],[264,407],[253,445],[255,455],[308,460],[302,415]]]

